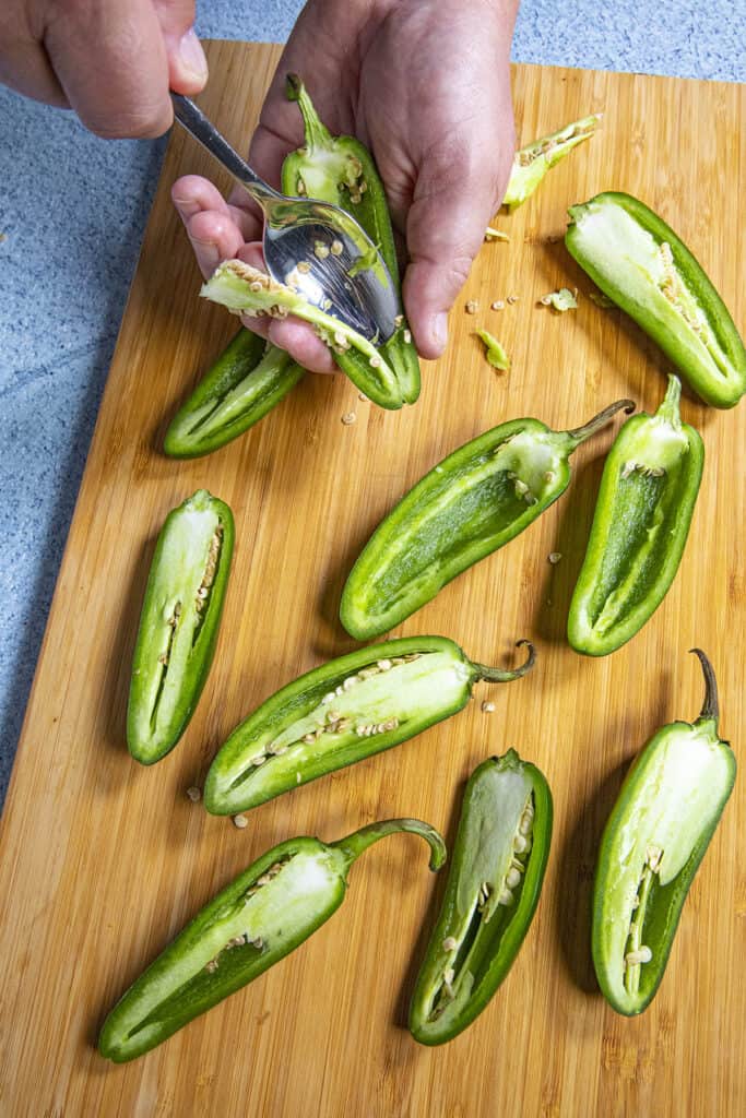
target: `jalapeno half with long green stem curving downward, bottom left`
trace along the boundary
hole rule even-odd
[[[427,823],[407,818],[370,824],[334,843],[290,839],[263,854],[195,917],[117,1002],[98,1038],[101,1054],[115,1063],[133,1060],[258,978],[339,908],[355,860],[397,832],[424,839],[431,869],[441,868],[441,835]]]

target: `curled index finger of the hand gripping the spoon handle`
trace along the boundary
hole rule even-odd
[[[68,0],[44,42],[70,106],[101,136],[157,136],[170,126],[169,66],[150,0]]]

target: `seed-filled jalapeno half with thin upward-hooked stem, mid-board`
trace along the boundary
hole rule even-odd
[[[227,739],[205,784],[205,807],[233,815],[407,741],[457,713],[479,680],[514,671],[473,664],[453,641],[417,636],[331,660],[262,703]]]

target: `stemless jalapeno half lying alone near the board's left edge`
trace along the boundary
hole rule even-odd
[[[230,571],[227,504],[198,490],[158,537],[132,664],[126,740],[143,765],[183,733],[210,670]]]

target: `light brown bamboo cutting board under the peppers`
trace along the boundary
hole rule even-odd
[[[214,44],[206,111],[238,146],[278,57]],[[236,91],[242,96],[236,96]],[[632,396],[652,410],[664,362],[591,285],[561,244],[566,207],[629,190],[680,231],[742,329],[746,96],[737,86],[518,66],[521,142],[589,112],[596,139],[499,225],[451,320],[419,402],[360,401],[342,377],[306,377],[246,436],[191,463],[161,451],[179,401],[235,331],[197,299],[198,276],[169,187],[209,164],[171,139],[69,533],[2,821],[0,1112],[9,1116],[488,1116],[746,1112],[746,775],[684,908],[667,976],[639,1020],[595,986],[589,891],[601,830],[624,769],[653,730],[693,719],[701,645],[719,675],[724,737],[746,748],[746,405],[684,400],[703,434],[705,481],[679,576],[662,607],[613,656],[564,639],[606,430],[574,459],[566,495],[529,531],[451,584],[402,634],[454,637],[510,663],[520,682],[478,689],[469,709],[418,739],[249,814],[244,831],[192,804],[234,724],[278,685],[348,651],[337,607],[380,517],[444,454],[523,415],[576,426]],[[537,307],[579,288],[574,313]],[[520,302],[498,313],[492,300]],[[479,300],[478,315],[464,313]],[[487,325],[512,369],[497,376],[472,337]],[[353,410],[357,421],[341,424]],[[154,537],[200,486],[228,501],[237,550],[214,670],[180,746],[152,769],[124,746],[130,662]],[[561,552],[551,566],[547,557]],[[481,711],[491,698],[492,714]],[[348,899],[306,945],[154,1052],[125,1067],[94,1044],[113,1002],[219,888],[295,834],[333,840],[417,815],[452,839],[463,781],[516,746],[546,773],[556,827],[536,921],[478,1022],[443,1049],[418,1046],[406,1007],[444,885],[414,837],[389,839],[350,875]],[[423,930],[425,929],[425,930]]]

